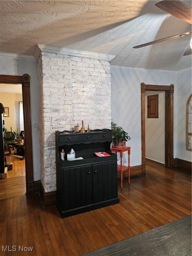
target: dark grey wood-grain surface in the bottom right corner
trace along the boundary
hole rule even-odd
[[[191,215],[84,256],[191,256]]]

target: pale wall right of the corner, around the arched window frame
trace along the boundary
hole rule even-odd
[[[191,94],[191,70],[177,74],[176,87],[176,155],[192,161],[191,151],[186,150],[186,104]]]

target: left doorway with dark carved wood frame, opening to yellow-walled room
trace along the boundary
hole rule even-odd
[[[7,92],[10,85],[12,89]],[[2,95],[0,100],[5,108],[5,112],[3,113],[4,110],[1,112],[3,114],[1,114],[2,123],[0,123],[0,140],[3,142],[0,148],[0,152],[3,152],[0,155],[2,167],[0,168],[0,199],[25,193],[34,194],[30,77],[28,74],[0,75],[0,86],[1,93],[9,94],[6,101],[4,99],[6,95]],[[13,92],[16,95],[11,100]],[[11,107],[12,101],[14,104]],[[12,108],[15,110],[12,111]],[[11,117],[10,122],[9,117]],[[5,131],[3,127],[6,128]],[[7,164],[5,167],[4,154],[7,162],[12,165]],[[7,171],[8,175],[5,174],[6,168],[12,169]]]

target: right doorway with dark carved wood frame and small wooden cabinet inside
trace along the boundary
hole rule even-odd
[[[164,86],[141,83],[141,151],[143,173],[145,173],[147,157],[164,163],[165,167],[174,167],[173,94],[173,84]],[[155,119],[159,120],[155,121]],[[161,123],[163,120],[164,124]],[[146,127],[152,129],[147,131],[147,134]],[[146,142],[148,143],[147,145]]]

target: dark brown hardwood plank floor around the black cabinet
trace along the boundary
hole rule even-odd
[[[33,251],[0,248],[0,255],[83,255],[191,214],[191,175],[185,170],[148,160],[146,174],[130,184],[124,179],[118,189],[119,204],[64,219],[55,206],[42,208],[38,195],[7,194],[0,200],[0,246]]]

